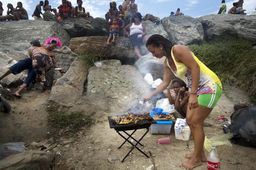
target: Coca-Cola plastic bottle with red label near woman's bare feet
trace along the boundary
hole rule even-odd
[[[209,169],[209,170],[220,170],[221,169],[219,155],[217,154],[214,145],[211,146],[211,151],[207,155],[207,169]]]

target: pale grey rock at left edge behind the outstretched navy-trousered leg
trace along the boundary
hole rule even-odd
[[[17,63],[19,60],[27,58],[25,54],[17,54],[9,50],[0,50],[0,75],[3,75],[7,69]],[[14,75],[9,74],[1,80],[1,84],[8,87],[17,87],[22,84],[22,82],[27,77],[27,70],[22,71],[20,74]]]

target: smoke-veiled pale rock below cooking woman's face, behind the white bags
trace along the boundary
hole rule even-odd
[[[166,57],[159,59],[153,57],[152,54],[148,54],[136,61],[135,66],[142,77],[145,77],[147,73],[150,73],[154,80],[163,80],[163,62],[165,59]]]

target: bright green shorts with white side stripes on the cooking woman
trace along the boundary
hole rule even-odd
[[[219,100],[219,98],[222,95],[222,89],[219,87],[219,85],[217,83],[215,83],[215,87],[216,87],[216,93],[215,94],[205,93],[205,94],[197,96],[198,103],[200,105],[208,107],[208,108],[214,108],[217,101]]]

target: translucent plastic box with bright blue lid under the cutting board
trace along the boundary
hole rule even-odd
[[[168,112],[163,112],[166,114],[170,114]],[[153,117],[153,113],[150,112],[150,116]],[[156,121],[157,123],[151,124],[151,134],[154,135],[169,135],[171,131],[171,125],[173,124],[173,121],[167,120],[167,121]]]

